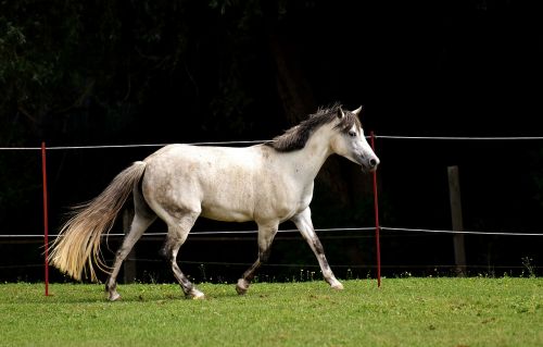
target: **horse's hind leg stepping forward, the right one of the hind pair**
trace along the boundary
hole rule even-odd
[[[191,299],[203,299],[205,296],[202,292],[198,290],[197,287],[182,273],[181,269],[177,264],[177,253],[187,239],[187,236],[189,235],[189,232],[199,215],[200,213],[198,212],[190,212],[185,213],[182,216],[177,216],[172,220],[168,219],[166,222],[168,224],[168,235],[163,249],[172,265],[174,276],[181,286],[185,296]]]

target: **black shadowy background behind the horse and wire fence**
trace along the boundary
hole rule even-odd
[[[535,1],[513,0],[2,2],[0,147],[264,140],[336,101],[364,106],[378,136],[543,136],[541,15]],[[446,169],[458,165],[465,230],[542,232],[543,140],[376,145],[381,225],[451,230]],[[51,233],[154,150],[50,150]],[[42,232],[40,160],[0,151],[1,235]],[[371,226],[371,177],[331,158],[312,210],[316,227]],[[252,228],[201,221],[194,232]],[[375,275],[371,234],[319,233],[339,276]],[[452,273],[451,235],[381,235],[387,275]],[[254,260],[255,236],[213,237],[189,237],[179,259],[199,280],[231,281]],[[39,241],[0,239],[0,280],[40,280]],[[160,246],[137,247],[141,281],[173,280]],[[466,236],[469,274],[538,272],[542,246]],[[263,278],[319,276],[294,233],[276,240],[270,263]]]

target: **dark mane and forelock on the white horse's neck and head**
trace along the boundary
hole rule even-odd
[[[332,122],[338,116],[340,109],[341,104],[338,102],[327,109],[319,108],[317,113],[310,114],[305,121],[302,121],[300,124],[291,127],[285,132],[285,134],[265,142],[265,145],[273,147],[275,150],[280,152],[290,152],[302,149],[305,147],[305,144],[315,129],[324,124]],[[338,125],[336,125],[336,128],[339,128],[341,132],[349,132],[354,124],[358,124],[358,126],[361,126],[361,121],[354,113],[346,110],[343,110],[343,113],[345,116],[340,123],[338,123]]]

